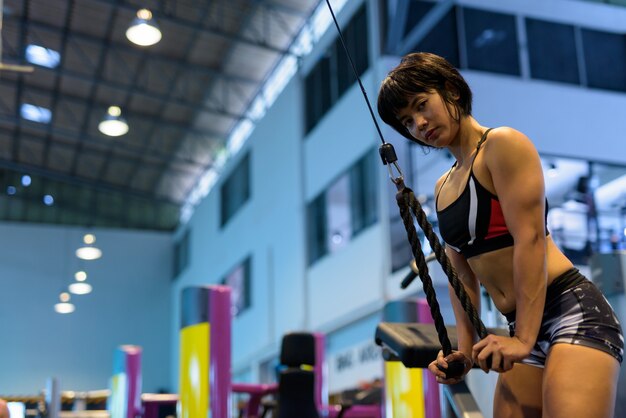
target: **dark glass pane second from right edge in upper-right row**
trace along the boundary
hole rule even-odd
[[[574,27],[526,19],[531,77],[579,84]]]

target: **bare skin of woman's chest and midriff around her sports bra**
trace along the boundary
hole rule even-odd
[[[474,151],[474,154],[463,165],[457,164],[447,179],[438,184],[437,211],[445,210],[458,200],[468,185],[470,171],[482,187],[493,195],[497,195],[491,174],[484,161],[486,152],[488,152],[488,147],[483,145],[480,152]],[[563,255],[549,235],[545,237],[547,275],[548,284],[550,284],[555,277],[571,268],[572,263]],[[513,248],[513,246],[508,246],[467,259],[472,271],[485,287],[498,310],[504,313],[515,309]]]

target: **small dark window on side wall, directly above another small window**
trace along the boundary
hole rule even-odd
[[[221,188],[221,225],[224,226],[250,197],[250,154],[246,154]]]

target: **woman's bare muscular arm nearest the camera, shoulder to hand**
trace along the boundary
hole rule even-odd
[[[516,318],[513,339],[521,345],[491,347],[498,351],[494,355],[494,369],[499,368],[497,360],[502,360],[505,363],[502,369],[508,370],[509,362],[521,360],[530,353],[543,316],[547,281],[543,170],[530,140],[511,128],[492,132],[485,143],[483,158],[514,239]],[[487,352],[482,353],[481,360],[487,355]]]

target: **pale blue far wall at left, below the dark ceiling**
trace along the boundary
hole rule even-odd
[[[108,387],[113,351],[143,347],[146,392],[169,388],[169,234],[92,230],[103,251],[79,264],[84,229],[0,224],[0,395],[37,395],[48,377],[62,390]],[[93,285],[57,314],[59,293],[84,269]]]

